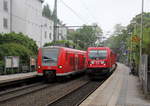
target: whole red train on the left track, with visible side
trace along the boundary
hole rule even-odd
[[[69,76],[86,69],[86,52],[71,48],[50,46],[39,49],[37,72],[47,81],[58,76]]]

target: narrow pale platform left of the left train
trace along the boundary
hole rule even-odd
[[[19,74],[11,74],[11,75],[0,75],[0,84],[13,82],[17,80],[23,80],[28,78],[33,78],[37,76],[37,72],[29,72],[29,73],[19,73]]]

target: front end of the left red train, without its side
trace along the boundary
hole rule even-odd
[[[48,81],[56,78],[56,73],[62,66],[58,65],[60,48],[40,48],[38,53],[38,74],[42,74]]]

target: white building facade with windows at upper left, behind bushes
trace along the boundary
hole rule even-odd
[[[39,47],[53,41],[53,21],[42,16],[44,0],[0,0],[0,33],[23,33]],[[56,39],[67,36],[65,25],[59,25]]]

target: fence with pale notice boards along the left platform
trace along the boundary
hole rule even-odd
[[[0,75],[33,72],[36,70],[36,58],[30,57],[26,62],[22,62],[19,56],[6,56],[0,65]]]

